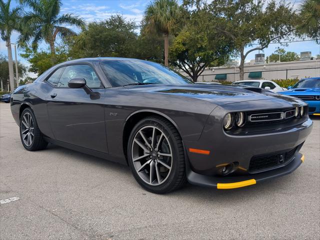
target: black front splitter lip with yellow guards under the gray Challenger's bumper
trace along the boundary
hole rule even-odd
[[[304,156],[301,153],[295,155],[287,165],[276,168],[269,171],[264,171],[252,175],[242,175],[242,176],[225,176],[225,177],[215,177],[215,176],[205,176],[202,174],[195,173],[191,169],[187,171],[188,182],[200,186],[216,187],[218,189],[231,189],[243,186],[248,186],[267,180],[269,178],[283,176],[294,171],[298,166],[304,161]]]

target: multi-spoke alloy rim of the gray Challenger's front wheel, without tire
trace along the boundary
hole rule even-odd
[[[159,185],[172,168],[172,150],[166,135],[156,126],[140,128],[132,142],[131,156],[139,177],[150,185]]]

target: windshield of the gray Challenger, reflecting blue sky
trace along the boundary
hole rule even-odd
[[[100,65],[112,86],[129,84],[189,84],[189,79],[155,62],[110,59]]]

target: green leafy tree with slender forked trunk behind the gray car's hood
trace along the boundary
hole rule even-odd
[[[240,55],[240,80],[243,80],[244,60],[250,52],[289,38],[295,29],[296,14],[284,1],[214,0],[208,4],[208,10],[215,17],[216,29],[232,38]],[[256,47],[244,50],[253,43]]]

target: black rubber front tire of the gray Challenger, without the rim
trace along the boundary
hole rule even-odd
[[[150,185],[144,182],[136,172],[133,165],[133,161],[132,161],[131,148],[132,148],[133,138],[140,128],[147,125],[158,127],[165,134],[171,146],[171,151],[172,151],[171,171],[169,173],[168,178],[159,185]],[[184,161],[184,156],[181,156],[181,154],[179,153],[178,144],[175,140],[172,130],[167,126],[165,121],[155,117],[147,117],[139,121],[131,131],[131,134],[129,136],[129,141],[128,141],[128,147],[127,147],[127,159],[128,159],[128,164],[131,168],[134,178],[142,187],[154,193],[165,193],[170,191],[171,188],[173,188],[173,186],[175,185],[178,179],[179,162],[181,160]]]

